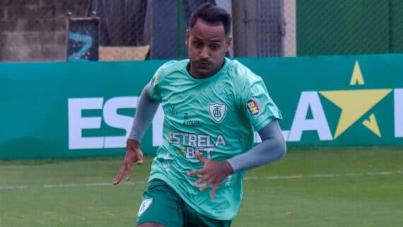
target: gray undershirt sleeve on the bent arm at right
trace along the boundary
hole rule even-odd
[[[233,168],[233,173],[271,163],[286,154],[286,141],[281,133],[278,120],[272,120],[269,124],[259,130],[262,143],[249,151],[228,159]]]

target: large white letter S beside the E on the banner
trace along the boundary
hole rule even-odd
[[[103,106],[103,119],[107,125],[117,129],[124,129],[124,136],[106,136],[105,149],[126,147],[127,137],[132,129],[133,117],[118,115],[117,110],[123,108],[136,108],[138,97],[111,98]]]

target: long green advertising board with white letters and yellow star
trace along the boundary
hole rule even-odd
[[[288,146],[403,145],[403,54],[238,60],[267,84]],[[0,64],[0,159],[124,154],[141,90],[164,62]],[[159,109],[144,153],[162,123]]]

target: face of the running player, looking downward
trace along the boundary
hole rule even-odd
[[[223,66],[232,37],[224,32],[222,23],[211,25],[197,19],[194,27],[186,33],[190,69],[194,78],[213,76]]]

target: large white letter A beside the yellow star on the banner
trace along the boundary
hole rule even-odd
[[[313,119],[306,119],[310,108]],[[300,141],[303,131],[317,131],[320,140],[332,140],[325,112],[316,91],[303,91],[300,95],[296,115],[287,141]]]

